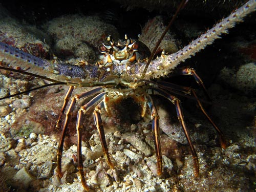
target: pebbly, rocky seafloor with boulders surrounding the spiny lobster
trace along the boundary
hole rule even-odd
[[[10,8],[4,5],[0,8],[0,40],[45,59],[54,58],[54,54],[70,63],[82,59],[95,62],[97,47],[106,35],[123,38],[115,24],[102,20],[98,14],[61,15],[34,26],[13,16],[8,11]],[[199,177],[196,178],[174,106],[154,96],[162,130],[163,173],[159,177],[149,111],[141,118],[141,106],[132,99],[124,99],[110,106],[112,116],[104,110],[101,114],[115,169],[103,158],[93,110],[84,118],[83,166],[92,191],[255,191],[256,48],[255,33],[250,28],[253,24],[255,14],[183,64],[196,68],[205,81],[213,102],[204,105],[223,131],[227,148],[220,147],[214,127],[196,102],[179,96],[199,158]],[[147,18],[142,25],[146,27],[137,32],[142,33],[139,39],[152,49],[156,43],[154,37],[161,34],[164,25],[159,16]],[[167,45],[168,52],[180,49],[187,39],[196,38],[210,25],[202,26],[181,16],[174,27],[162,44],[165,49]],[[166,80],[194,82],[185,77]],[[1,71],[0,96],[46,83]],[[203,96],[196,83],[188,83],[190,85]],[[75,112],[88,100],[79,101],[72,114],[62,155],[63,177],[59,179],[56,174],[61,130],[56,129],[55,124],[66,89],[56,86],[0,101],[0,191],[83,191],[77,170]],[[74,94],[86,90],[88,88],[79,88]]]

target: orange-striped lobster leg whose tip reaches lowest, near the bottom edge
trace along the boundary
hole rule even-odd
[[[77,122],[76,122],[76,131],[77,131],[77,163],[78,163],[78,171],[81,176],[81,182],[83,185],[83,188],[86,191],[89,191],[89,187],[86,184],[86,179],[84,177],[83,172],[83,165],[82,165],[82,121],[83,116],[86,114],[86,112],[93,106],[96,102],[98,102],[103,96],[105,95],[105,92],[102,92],[95,96],[92,100],[90,100],[87,104],[81,106],[77,113]]]

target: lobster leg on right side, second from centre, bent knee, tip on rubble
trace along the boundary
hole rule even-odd
[[[175,105],[178,119],[179,119],[180,124],[182,126],[182,129],[183,129],[183,131],[185,133],[187,142],[188,142],[190,150],[191,150],[191,154],[193,156],[194,175],[196,177],[198,177],[198,175],[199,175],[199,165],[198,165],[197,152],[196,152],[195,147],[194,147],[194,145],[193,145],[193,143],[191,141],[191,138],[190,138],[188,130],[187,130],[186,123],[184,121],[184,116],[183,116],[183,112],[182,112],[182,109],[181,109],[180,100],[178,98],[176,98],[175,96],[170,95],[169,93],[167,93],[167,92],[165,92],[165,91],[163,91],[161,89],[152,89],[152,94],[161,95],[161,96],[165,97],[166,99],[168,99],[169,101],[171,101]]]

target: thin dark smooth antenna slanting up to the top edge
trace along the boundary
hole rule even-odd
[[[147,68],[148,68],[148,66],[150,66],[150,62],[152,61],[152,59],[153,59],[153,57],[154,57],[154,55],[155,55],[155,53],[156,53],[156,51],[157,51],[157,49],[158,49],[158,47],[159,47],[159,45],[160,45],[160,43],[161,43],[161,41],[162,41],[164,35],[165,35],[165,34],[167,33],[167,31],[169,30],[170,26],[172,26],[172,24],[173,24],[174,20],[176,19],[178,13],[180,12],[181,9],[184,8],[184,6],[186,5],[187,2],[188,2],[188,0],[182,0],[182,2],[180,3],[178,9],[176,10],[175,15],[174,15],[173,18],[170,20],[168,26],[165,28],[165,30],[164,30],[164,32],[162,33],[161,37],[160,37],[159,40],[157,41],[157,44],[156,44],[154,50],[152,51],[152,53],[151,53],[151,55],[150,55],[150,58],[148,58],[148,60],[147,60],[146,66],[145,66],[145,68],[144,68],[144,70],[143,70],[143,72],[142,72],[142,75],[141,75],[141,79],[144,78],[144,76],[145,76],[145,74],[146,74],[146,71],[147,71]]]

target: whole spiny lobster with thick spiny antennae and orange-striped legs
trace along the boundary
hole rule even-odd
[[[227,30],[232,28],[236,23],[242,22],[242,18],[248,15],[250,12],[254,11],[255,7],[256,1],[249,1],[244,6],[234,11],[231,15],[222,19],[220,23],[215,25],[212,29],[209,29],[205,34],[192,41],[189,45],[185,46],[180,51],[170,55],[162,54],[161,57],[156,58],[148,63],[146,63],[144,56],[138,54],[139,42],[129,39],[127,36],[125,36],[126,41],[124,44],[117,45],[115,44],[113,38],[109,36],[108,41],[110,42],[110,45],[102,44],[99,47],[99,51],[103,54],[103,59],[100,60],[97,65],[86,63],[83,66],[70,66],[66,63],[51,63],[47,60],[24,53],[18,49],[3,44],[2,42],[0,42],[0,59],[3,63],[6,63],[8,67],[25,68],[26,71],[22,71],[24,74],[32,74],[35,77],[52,81],[55,84],[65,84],[69,86],[69,90],[66,93],[65,102],[63,103],[61,114],[57,122],[57,126],[59,126],[61,117],[63,114],[65,114],[66,117],[62,125],[62,134],[57,152],[57,172],[60,177],[62,177],[61,155],[63,150],[63,142],[70,121],[70,114],[73,112],[75,104],[79,99],[87,98],[89,96],[95,97],[85,105],[81,106],[78,111],[76,124],[78,170],[81,175],[81,181],[84,189],[87,191],[90,190],[84,178],[82,165],[81,124],[83,116],[92,106],[96,105],[94,110],[95,125],[100,137],[104,156],[110,167],[114,168],[114,163],[111,160],[108,147],[106,145],[100,113],[101,109],[104,108],[107,113],[111,114],[109,111],[108,103],[115,102],[122,97],[133,97],[135,100],[142,103],[142,117],[146,113],[146,105],[148,105],[150,108],[153,121],[153,138],[157,155],[157,174],[161,175],[162,155],[159,141],[159,115],[151,95],[160,95],[165,97],[175,105],[178,119],[182,125],[183,131],[191,149],[191,153],[193,155],[194,175],[198,176],[199,165],[197,153],[187,131],[187,127],[183,118],[183,112],[181,110],[180,100],[176,96],[172,95],[172,93],[188,94],[197,100],[200,109],[215,127],[220,137],[222,148],[226,147],[224,135],[205,112],[193,89],[177,86],[172,83],[154,81],[153,79],[158,79],[160,77],[167,76],[169,73],[172,73],[172,71],[179,65],[180,62],[204,49],[205,46],[210,45],[215,39],[220,38],[221,34],[227,33]],[[0,66],[0,69],[19,72],[19,70],[2,66]],[[180,71],[180,74],[192,75],[196,82],[206,93],[204,84],[200,77],[196,74],[195,70],[190,68],[184,69]],[[75,87],[96,88],[92,88],[89,91],[75,95],[71,98]]]

